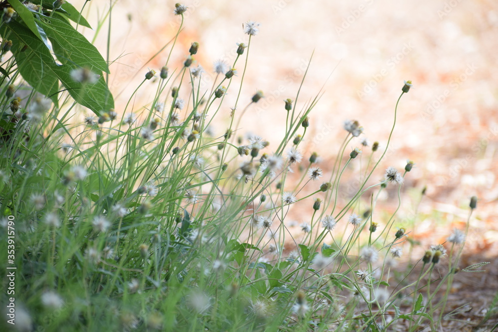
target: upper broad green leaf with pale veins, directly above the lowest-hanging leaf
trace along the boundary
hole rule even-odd
[[[55,17],[42,17],[36,22],[43,26],[61,63],[88,67],[96,74],[101,71],[109,73],[107,62],[97,48],[70,24]]]

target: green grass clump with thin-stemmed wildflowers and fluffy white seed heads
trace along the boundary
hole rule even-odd
[[[300,102],[305,76],[282,105],[287,118],[281,141],[238,141],[241,118],[263,96],[242,94],[250,45],[257,42],[251,24],[245,25],[246,47],[227,67],[243,68],[237,76],[220,73],[212,89],[202,91],[195,64],[186,60],[167,71],[180,25],[166,45],[164,67],[159,74],[143,73],[123,112],[105,109],[76,124],[71,121],[80,117],[69,114],[82,101],[74,92],[46,100],[23,81],[15,57],[5,61],[11,79],[3,79],[0,98],[0,249],[11,250],[7,236],[13,234],[14,263],[2,259],[1,273],[7,289],[5,267],[16,267],[16,325],[2,320],[4,328],[376,332],[408,320],[410,331],[437,330],[464,240],[450,237],[446,255],[428,249],[415,258],[413,265],[422,267],[415,282],[406,282],[413,270],[395,271],[392,260],[401,254],[396,248],[411,250],[410,229],[395,221],[410,164],[403,174],[391,170],[372,181],[389,166],[382,157],[411,82],[401,86],[397,102],[393,96],[383,150],[361,146],[356,137],[363,127],[345,123],[332,169],[319,169],[312,151],[299,152],[308,139],[308,115],[323,94]],[[95,84],[80,83],[82,91]],[[144,89],[155,89],[153,99],[133,105]],[[235,105],[226,105],[226,93],[237,95]],[[226,134],[213,135],[208,125],[228,107],[233,112]],[[348,150],[354,144],[363,151]],[[343,175],[360,159],[360,187],[342,204]],[[387,185],[397,190],[394,213],[377,202]],[[309,205],[305,198],[316,199],[307,207],[313,217],[296,236],[286,225],[289,208]],[[417,206],[420,197],[413,201]],[[358,218],[351,221],[351,215]],[[450,268],[436,275],[440,259]],[[4,293],[1,301],[7,304],[9,297]]]

